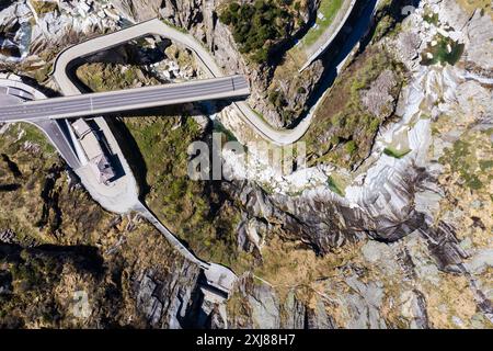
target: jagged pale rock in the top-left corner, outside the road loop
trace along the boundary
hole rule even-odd
[[[118,29],[121,18],[107,3],[58,1],[54,5],[49,11],[36,11],[21,0],[0,7],[0,68],[45,80],[59,50],[95,33]]]

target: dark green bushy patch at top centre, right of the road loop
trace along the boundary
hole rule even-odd
[[[265,63],[274,46],[289,35],[294,15],[283,4],[286,1],[256,0],[253,4],[231,2],[220,12],[219,20],[232,29],[240,53],[257,64]],[[288,1],[289,2],[289,1]]]

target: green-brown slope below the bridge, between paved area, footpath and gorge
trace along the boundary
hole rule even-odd
[[[233,265],[234,228],[239,212],[225,201],[226,194],[206,181],[187,176],[187,147],[200,139],[202,128],[186,117],[124,118],[147,168],[150,208],[196,254],[205,260]],[[175,127],[180,125],[180,127]]]

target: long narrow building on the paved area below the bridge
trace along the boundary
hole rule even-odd
[[[106,152],[104,152],[102,140],[96,131],[91,128],[83,118],[78,118],[71,125],[89,160],[90,168],[98,177],[98,181],[107,184],[116,176],[116,172]]]

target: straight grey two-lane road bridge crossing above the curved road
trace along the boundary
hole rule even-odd
[[[0,122],[35,122],[46,118],[82,117],[185,102],[238,98],[248,94],[250,94],[250,88],[244,77],[231,76],[184,83],[27,101],[3,106],[0,110]]]

